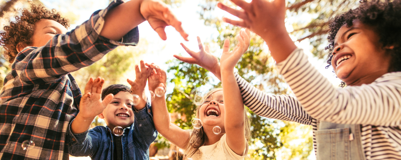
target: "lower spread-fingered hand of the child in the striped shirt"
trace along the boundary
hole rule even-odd
[[[209,46],[203,47],[201,42],[201,38],[198,38],[199,52],[194,52],[188,49],[184,44],[181,43],[182,48],[191,56],[191,57],[183,57],[174,55],[175,58],[181,60],[182,62],[190,63],[190,64],[198,64],[202,68],[205,68],[215,74],[215,76],[219,79],[220,77],[220,64],[219,59],[216,56],[213,56],[210,53]]]

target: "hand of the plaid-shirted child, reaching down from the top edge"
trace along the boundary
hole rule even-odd
[[[167,8],[166,4],[163,2],[159,0],[144,0],[141,3],[140,12],[162,40],[167,39],[164,28],[171,25],[180,32],[181,36],[186,41],[188,41],[188,34],[182,29],[181,22],[177,20],[171,10]]]

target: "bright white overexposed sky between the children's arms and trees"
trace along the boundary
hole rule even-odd
[[[59,0],[42,0],[49,8],[56,8],[61,12],[74,12],[79,13],[78,20],[71,28],[75,28],[77,24],[81,24],[89,18],[89,16],[99,9],[103,9],[108,5],[108,0],[85,0],[77,1],[73,0],[73,6],[70,2],[64,2]],[[140,38],[146,39],[148,42],[148,51],[141,58],[148,63],[155,63],[161,68],[166,70],[168,66],[165,64],[166,61],[174,59],[174,54],[182,54],[183,56],[189,56],[184,49],[182,49],[180,43],[184,43],[188,48],[194,51],[198,51],[198,42],[196,41],[196,36],[199,36],[202,42],[210,42],[211,40],[217,38],[218,32],[211,26],[205,26],[203,20],[199,18],[199,14],[196,12],[201,8],[198,4],[201,0],[182,0],[180,7],[172,8],[172,11],[177,16],[178,20],[182,22],[182,27],[189,34],[189,42],[186,42],[178,32],[171,26],[166,27],[167,40],[161,40],[156,32],[150,27],[147,22],[139,25]],[[79,7],[77,7],[79,6]],[[218,17],[229,17],[233,16],[228,13],[216,9],[214,14]],[[287,25],[288,30],[292,30],[291,25]],[[295,37],[293,37],[296,40]],[[309,44],[308,40],[304,40],[300,43],[297,42],[297,46],[303,48],[305,52],[310,57],[310,62],[324,75],[326,76],[335,86],[340,84],[340,80],[335,77],[332,72],[332,68],[325,69],[326,60],[314,58],[309,50],[312,46]],[[219,46],[216,46],[219,47]],[[221,52],[220,48],[211,48],[211,50],[216,50],[216,52]],[[219,54],[219,53],[217,53]]]

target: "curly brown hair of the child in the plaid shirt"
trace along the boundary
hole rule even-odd
[[[34,25],[41,19],[49,19],[59,22],[65,28],[69,28],[69,20],[61,17],[55,9],[48,10],[42,5],[30,5],[30,9],[22,9],[21,16],[15,16],[15,22],[4,26],[4,31],[0,31],[0,45],[4,46],[4,57],[8,62],[14,62],[18,54],[17,45],[29,46],[32,44]]]

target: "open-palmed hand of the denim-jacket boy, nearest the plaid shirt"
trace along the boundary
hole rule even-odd
[[[104,79],[100,77],[95,80],[89,79],[85,86],[85,94],[83,94],[79,104],[78,114],[82,118],[93,120],[95,116],[103,112],[107,104],[113,99],[113,94],[107,95],[103,100],[101,99],[103,83]]]

